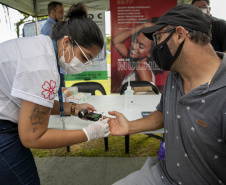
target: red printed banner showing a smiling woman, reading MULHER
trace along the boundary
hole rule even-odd
[[[150,27],[177,0],[111,0],[111,93],[119,93],[131,81],[150,81],[160,92],[168,72],[152,57],[153,43],[141,33]]]

